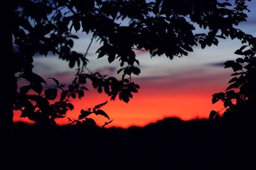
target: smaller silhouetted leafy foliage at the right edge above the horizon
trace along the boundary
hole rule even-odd
[[[234,71],[226,92],[212,96],[212,104],[223,102],[223,117],[237,119],[241,118],[241,114],[246,118],[255,117],[253,110],[256,104],[256,38],[251,38],[248,42],[249,45],[243,45],[235,52],[241,57],[225,62],[225,68],[231,67]],[[220,117],[217,111],[211,112],[210,118],[214,117]]]

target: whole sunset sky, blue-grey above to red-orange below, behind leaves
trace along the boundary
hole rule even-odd
[[[256,36],[256,3],[249,5],[251,13],[248,14],[248,22],[239,25],[239,28],[248,34]],[[80,39],[75,41],[73,50],[84,53],[92,36],[78,32]],[[231,69],[224,69],[223,63],[234,60],[238,55],[234,52],[241,46],[237,39],[219,39],[218,46],[200,46],[193,48],[186,57],[175,57],[173,60],[165,56],[150,58],[148,52],[137,51],[137,59],[140,61],[141,74],[132,76],[132,80],[140,85],[138,94],[127,104],[117,97],[111,101],[106,94],[98,94],[92,85],[88,85],[90,91],[86,92],[83,99],[73,100],[73,111],[67,113],[67,117],[77,118],[81,109],[95,106],[108,101],[102,110],[108,113],[113,122],[108,125],[116,127],[130,127],[132,125],[143,126],[167,117],[178,117],[182,120],[195,118],[208,118],[211,110],[219,111],[223,104],[211,104],[212,94],[223,92],[230,80]],[[97,59],[95,52],[100,47],[99,43],[93,43],[88,59],[88,68],[102,74],[116,76],[119,62],[109,64],[107,57]],[[69,69],[68,63],[59,60],[57,56],[35,57],[33,70],[43,78],[54,77],[66,85],[70,84],[75,69]],[[48,80],[47,82],[50,82]],[[19,118],[20,113],[15,112],[15,121],[29,122],[27,118]],[[108,122],[108,119],[100,116],[92,116],[98,125]],[[68,124],[67,118],[57,120],[58,124]]]

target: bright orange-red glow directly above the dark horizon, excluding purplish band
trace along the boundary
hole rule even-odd
[[[134,94],[133,99],[127,104],[119,101],[110,101],[106,94],[98,94],[96,90],[90,90],[86,96],[79,100],[72,101],[75,109],[67,113],[67,117],[77,119],[81,109],[86,110],[96,104],[104,103],[108,100],[108,104],[102,107],[102,110],[108,113],[113,122],[107,127],[123,127],[127,128],[132,125],[144,126],[166,117],[177,117],[182,120],[191,120],[195,118],[208,118],[211,110],[220,110],[221,103],[211,104],[211,96],[214,92],[220,91],[220,87],[211,89],[195,88],[186,89],[179,88],[167,89],[154,88],[150,86],[143,87],[138,94]],[[98,125],[103,125],[109,120],[100,115],[92,115]],[[22,121],[33,123],[28,118],[19,118],[19,113],[15,113],[15,122]],[[56,120],[59,125],[68,124],[67,118],[59,118]]]

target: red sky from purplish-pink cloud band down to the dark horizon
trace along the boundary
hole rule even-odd
[[[133,99],[127,104],[119,99],[110,101],[106,94],[98,94],[90,86],[90,91],[86,97],[72,101],[75,110],[70,111],[67,117],[76,119],[81,109],[86,109],[103,103],[108,100],[108,104],[102,110],[108,113],[113,119],[110,126],[129,127],[131,125],[143,126],[151,122],[156,122],[165,117],[179,117],[182,120],[193,118],[207,118],[211,110],[220,110],[221,103],[211,104],[211,96],[215,92],[225,90],[228,74],[219,68],[222,73],[212,73],[210,76],[207,70],[198,69],[194,73],[186,72],[177,75],[150,78],[135,78],[134,81],[140,84],[141,89],[138,94],[134,94]],[[204,75],[204,73],[207,73]],[[189,76],[186,76],[186,75]],[[224,74],[224,75],[225,75]],[[60,80],[69,78],[72,74],[56,75]],[[55,77],[56,77],[55,76]],[[108,119],[101,116],[92,116],[97,124],[102,125]],[[19,113],[15,114],[15,120],[26,120],[19,118]],[[58,124],[68,124],[67,118],[57,120]]]

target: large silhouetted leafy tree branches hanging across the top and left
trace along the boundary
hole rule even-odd
[[[250,37],[236,29],[237,24],[246,20],[246,0],[236,0],[234,4],[216,0],[149,3],[145,0],[13,0],[11,9],[13,67],[10,76],[15,81],[10,82],[14,104],[10,110],[20,110],[22,117],[42,125],[54,125],[56,118],[65,117],[67,111],[74,108],[68,98],[84,97],[86,80],[91,80],[99,93],[104,91],[112,100],[118,96],[128,103],[132,94],[140,89],[131,80],[132,74],[140,74],[134,50],[147,50],[152,57],[166,55],[173,59],[193,52],[196,45],[202,48],[218,45],[218,38],[230,36],[247,41]],[[195,32],[196,25],[201,32]],[[118,73],[122,73],[122,79],[88,71],[88,50],[83,54],[72,51],[73,39],[78,38],[72,30],[92,34],[92,41],[99,39],[102,46],[96,52],[98,58],[106,56],[109,63],[119,59]],[[45,56],[53,53],[66,60],[70,67],[77,64],[79,69],[67,89],[55,78],[51,78],[55,88],[43,89],[46,81],[33,73],[36,53]],[[28,81],[28,85],[18,87],[20,79]],[[58,90],[61,90],[60,99],[56,99]],[[108,118],[104,111],[93,109],[82,110],[80,118],[86,119],[91,113]],[[12,111],[9,114],[12,115]]]

